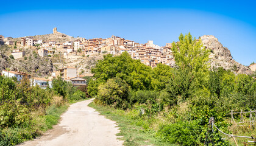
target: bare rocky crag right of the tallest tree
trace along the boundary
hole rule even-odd
[[[201,36],[201,40],[205,47],[212,50],[210,63],[213,68],[230,69],[235,74],[253,74],[249,68],[233,60],[230,50],[227,47],[223,47],[215,36],[204,35]]]

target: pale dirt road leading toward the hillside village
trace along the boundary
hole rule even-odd
[[[74,103],[52,130],[21,145],[123,145],[123,141],[116,139],[119,131],[115,122],[100,116],[95,109],[87,106],[92,101],[93,99]]]

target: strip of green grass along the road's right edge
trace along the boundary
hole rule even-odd
[[[147,122],[136,118],[134,112],[126,112],[120,109],[115,109],[110,106],[96,105],[91,102],[88,106],[96,109],[101,115],[107,117],[107,119],[114,120],[118,123],[120,133],[117,134],[118,139],[124,141],[124,145],[171,145],[166,141],[162,141],[155,137],[155,131],[148,127]]]

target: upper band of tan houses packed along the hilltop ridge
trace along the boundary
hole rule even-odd
[[[63,33],[57,32],[57,28],[53,29],[53,34],[62,35]],[[4,44],[15,45],[12,38],[4,38],[1,36]],[[0,40],[1,40],[0,38]],[[62,53],[65,58],[68,55],[92,55],[92,54],[121,54],[127,51],[133,59],[141,60],[141,63],[153,68],[158,63],[167,65],[174,64],[171,44],[166,44],[164,47],[157,46],[153,41],[140,44],[134,41],[126,40],[118,36],[112,36],[111,38],[93,38],[86,40],[85,38],[77,38],[76,40],[69,40],[64,42],[59,41],[47,41],[42,39],[35,39],[32,36],[20,38],[16,41],[15,46],[23,47],[24,49],[30,46],[37,46],[38,55],[41,57],[47,57],[56,53]],[[13,50],[13,57],[23,57],[23,50]]]

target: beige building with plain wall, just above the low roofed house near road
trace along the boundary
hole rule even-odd
[[[61,68],[55,71],[55,77],[63,79],[77,77],[77,69],[73,67]]]

